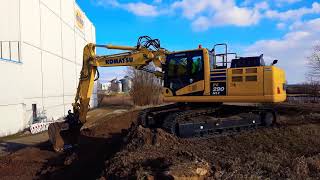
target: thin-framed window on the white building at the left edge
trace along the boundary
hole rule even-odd
[[[0,60],[20,63],[21,46],[19,41],[0,41]]]

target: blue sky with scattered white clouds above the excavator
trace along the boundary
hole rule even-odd
[[[289,83],[305,80],[306,60],[320,43],[315,0],[77,0],[96,27],[98,44],[135,45],[141,35],[169,50],[211,49],[226,42],[240,55],[279,59]],[[112,51],[108,51],[112,53]],[[102,80],[126,68],[101,69]]]

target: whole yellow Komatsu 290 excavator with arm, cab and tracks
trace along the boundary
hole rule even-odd
[[[97,56],[96,48],[125,50]],[[223,50],[218,53],[218,50]],[[230,56],[235,56],[228,61]],[[159,71],[147,69],[153,64]],[[169,52],[158,39],[142,36],[136,46],[88,44],[83,51],[79,85],[64,122],[49,126],[49,139],[55,151],[74,144],[86,122],[98,67],[131,66],[148,71],[163,80],[163,99],[173,104],[149,108],[139,115],[138,123],[148,128],[163,128],[179,137],[206,136],[245,128],[270,126],[277,113],[265,106],[221,105],[222,103],[277,103],[286,99],[285,72],[265,65],[263,55],[237,57],[226,44],[209,50]],[[97,77],[96,77],[97,76]]]

